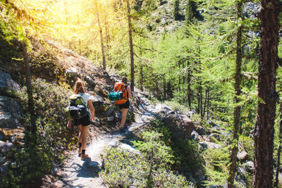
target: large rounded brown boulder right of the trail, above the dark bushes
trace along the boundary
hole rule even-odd
[[[187,115],[169,115],[164,118],[166,125],[175,137],[190,139],[195,126]]]

